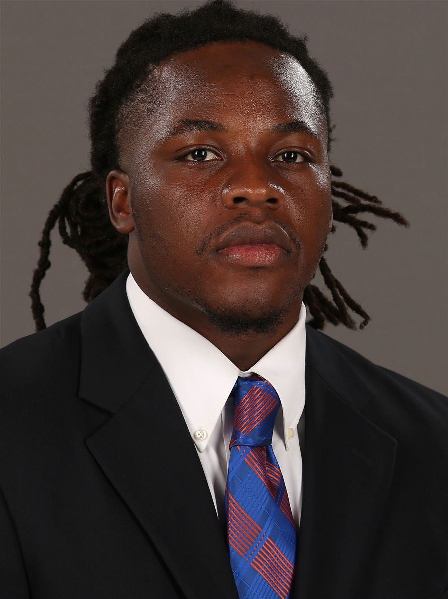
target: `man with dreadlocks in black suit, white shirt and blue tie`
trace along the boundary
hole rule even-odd
[[[330,97],[228,2],[118,50],[32,289],[57,221],[90,303],[2,350],[2,597],[448,596],[447,400],[316,330],[368,322],[333,219],[406,223],[331,181]]]

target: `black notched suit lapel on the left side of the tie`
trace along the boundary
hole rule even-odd
[[[82,317],[79,394],[112,413],[86,445],[185,596],[237,598],[222,524],[196,447],[127,302],[128,273]]]

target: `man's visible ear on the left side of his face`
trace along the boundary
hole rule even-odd
[[[106,198],[109,217],[119,233],[130,233],[134,220],[130,207],[129,177],[123,171],[114,169],[106,177]]]

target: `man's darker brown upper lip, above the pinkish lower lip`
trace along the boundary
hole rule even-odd
[[[285,252],[291,252],[291,243],[288,234],[273,222],[266,225],[253,225],[242,223],[227,231],[218,241],[216,250],[233,246],[256,246],[267,244],[279,246]]]

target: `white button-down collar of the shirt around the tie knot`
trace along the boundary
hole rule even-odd
[[[126,294],[135,320],[153,350],[181,408],[197,449],[203,452],[237,377],[256,373],[275,388],[283,413],[285,447],[305,405],[306,307],[297,323],[249,370],[241,371],[214,344],[149,298],[132,274]],[[198,432],[198,431],[205,431]]]

